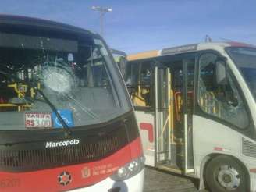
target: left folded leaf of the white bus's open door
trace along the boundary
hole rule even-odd
[[[171,158],[171,73],[155,66],[155,162],[169,164]]]

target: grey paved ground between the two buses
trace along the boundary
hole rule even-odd
[[[196,192],[199,180],[156,169],[145,170],[144,192]]]

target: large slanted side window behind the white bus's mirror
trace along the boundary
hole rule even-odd
[[[216,59],[218,56],[212,53],[205,53],[199,59],[199,105],[211,116],[219,117],[241,129],[246,128],[249,125],[247,111],[229,69],[226,70],[227,83],[216,83]]]

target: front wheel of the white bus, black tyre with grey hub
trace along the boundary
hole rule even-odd
[[[247,172],[229,156],[222,155],[210,160],[204,173],[206,185],[212,192],[248,191]]]

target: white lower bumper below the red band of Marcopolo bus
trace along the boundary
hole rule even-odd
[[[69,192],[142,192],[144,183],[144,169],[136,176],[132,176],[124,181],[115,181],[108,177],[90,187],[83,187]]]

